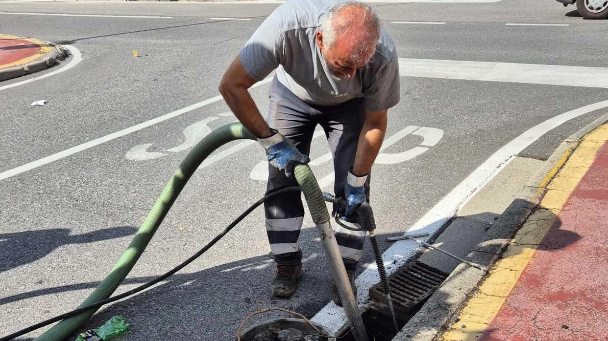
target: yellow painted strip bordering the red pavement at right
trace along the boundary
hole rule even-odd
[[[608,124],[587,134],[575,150],[568,149],[542,181],[547,193],[494,263],[488,277],[460,311],[460,320],[448,326],[438,340],[475,341],[492,322],[517,280],[530,262],[568,197],[595,159],[599,147],[608,141]],[[505,340],[507,341],[507,340]]]

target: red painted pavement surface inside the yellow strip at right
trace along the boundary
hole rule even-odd
[[[608,340],[608,143],[478,340]]]

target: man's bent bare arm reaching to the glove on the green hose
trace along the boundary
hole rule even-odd
[[[219,93],[243,126],[256,137],[269,137],[272,130],[247,90],[255,83],[255,79],[247,75],[243,68],[240,56],[237,56],[219,82]]]

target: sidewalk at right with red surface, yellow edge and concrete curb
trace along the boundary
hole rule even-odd
[[[597,127],[606,120],[547,161],[528,186],[530,210],[511,219],[515,237],[496,242],[503,224],[469,254],[493,264],[489,274],[458,266],[394,341],[608,340],[608,124]]]

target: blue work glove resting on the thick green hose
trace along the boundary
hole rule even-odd
[[[258,138],[258,142],[266,149],[266,158],[272,166],[285,170],[285,175],[291,178],[294,174],[295,163],[309,163],[310,159],[300,153],[281,133],[273,130],[274,135]]]

